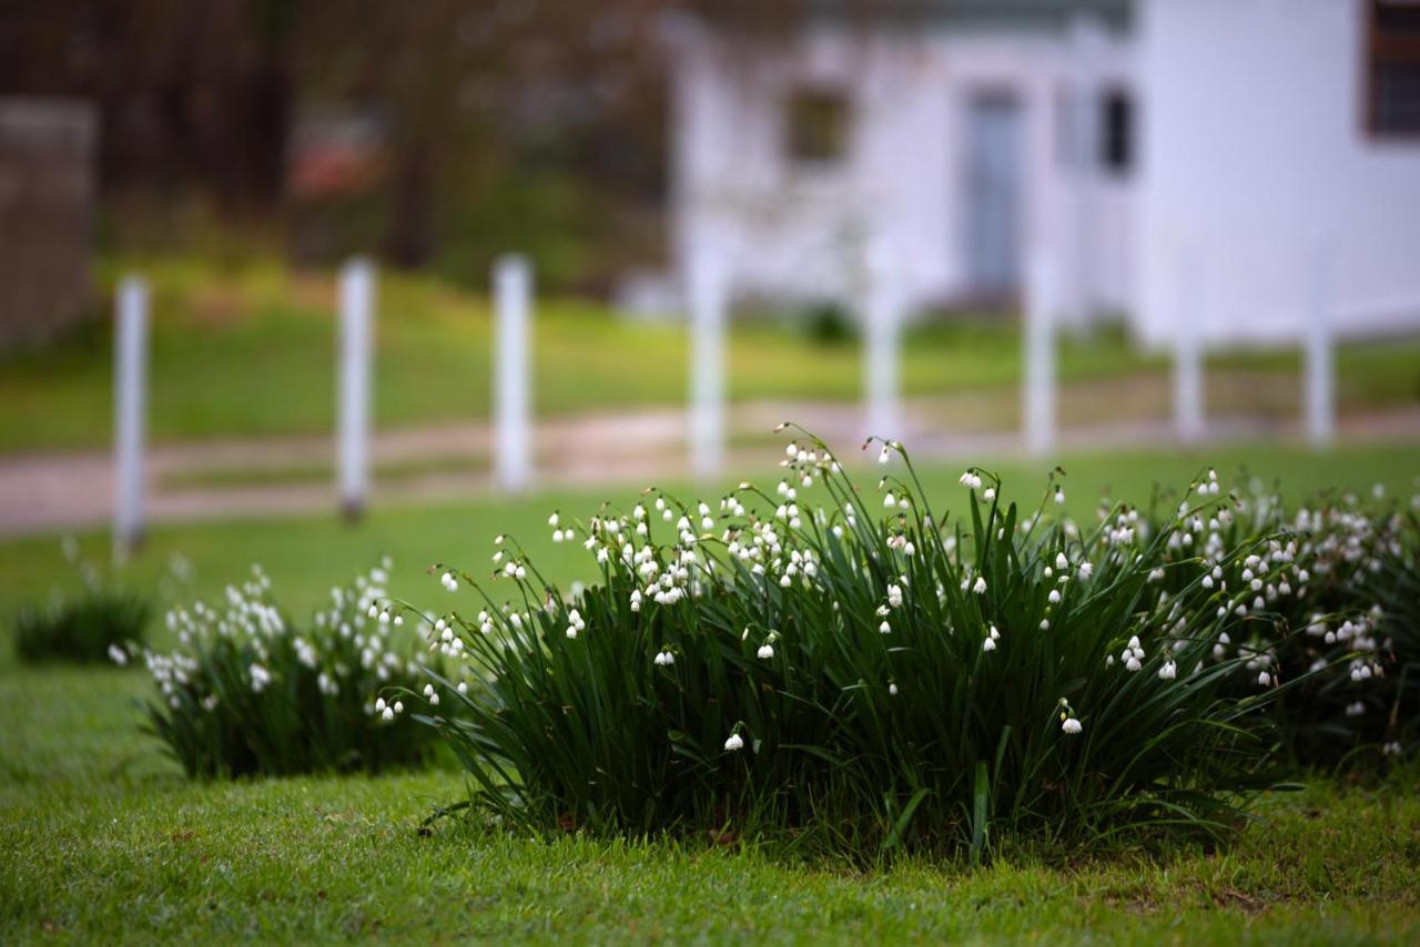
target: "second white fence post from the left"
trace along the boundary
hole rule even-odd
[[[359,518],[369,496],[369,415],[375,267],[362,257],[341,268],[338,488],[341,511]]]

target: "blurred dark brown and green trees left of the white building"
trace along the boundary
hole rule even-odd
[[[518,246],[595,285],[659,248],[676,17],[787,35],[905,1],[6,0],[0,94],[95,99],[105,197],[197,195],[237,223],[293,212],[302,109],[356,109],[385,160],[317,256],[471,275]]]

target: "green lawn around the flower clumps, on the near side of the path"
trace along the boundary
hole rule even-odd
[[[772,483],[771,454],[757,476]],[[1233,478],[1282,477],[1291,496],[1382,483],[1407,500],[1420,446],[1326,454],[1254,447],[1066,457],[1072,513],[1100,491],[1146,498],[1206,463]],[[1045,464],[1003,467],[1010,496],[1037,496]],[[873,464],[861,480],[879,474]],[[927,471],[929,494],[960,503],[957,469]],[[726,477],[724,483],[733,483]],[[719,491],[707,490],[706,497]],[[694,496],[686,491],[686,496]],[[379,508],[358,528],[334,517],[155,530],[124,581],[158,588],[172,555],[214,593],[261,561],[298,613],[379,552],[396,593],[446,595],[422,566],[486,564],[517,531],[552,578],[588,578],[579,545],[552,545],[550,508],[630,504],[598,494]],[[91,555],[105,537],[82,537]],[[0,544],[0,611],[67,581],[53,538]],[[71,579],[70,579],[71,581]],[[176,595],[173,588],[165,595]],[[14,664],[0,636],[0,943],[74,940],[1020,938],[1140,943],[1394,941],[1420,937],[1420,785],[1314,779],[1260,801],[1255,823],[1218,850],[1119,849],[1089,859],[1017,853],[985,870],[899,862],[859,872],[804,865],[781,843],[714,848],[508,838],[420,819],[462,798],[450,768],[382,778],[192,784],[139,731],[139,670]]]

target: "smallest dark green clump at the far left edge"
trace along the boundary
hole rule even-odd
[[[23,662],[102,662],[114,649],[141,643],[148,599],[106,585],[97,569],[80,562],[71,544],[65,555],[80,574],[81,589],[55,592],[48,605],[26,605],[14,616],[16,653]]]

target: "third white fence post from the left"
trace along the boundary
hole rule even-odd
[[[525,257],[508,254],[493,264],[496,312],[494,410],[497,413],[497,477],[507,491],[528,486],[532,450],[528,417],[531,365],[528,319],[532,307],[532,268]]]

